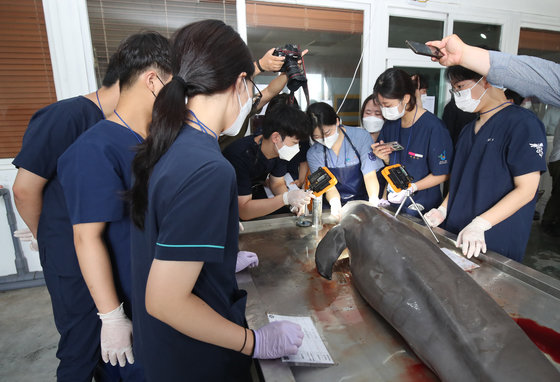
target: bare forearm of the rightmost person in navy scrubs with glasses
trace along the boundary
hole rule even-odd
[[[534,175],[535,181],[533,182],[533,185],[517,185],[513,190],[500,199],[498,203],[494,204],[494,206],[492,206],[489,210],[482,213],[480,217],[489,221],[492,226],[495,226],[496,224],[509,218],[521,207],[533,200],[538,188],[539,178],[540,174]]]

